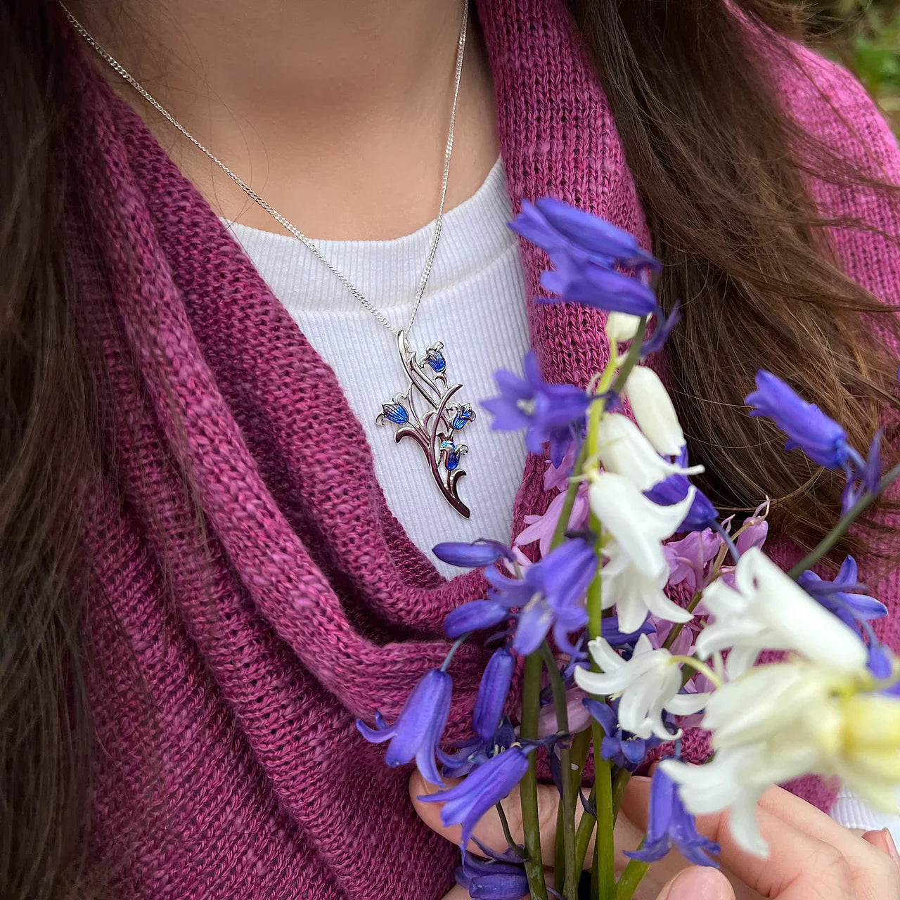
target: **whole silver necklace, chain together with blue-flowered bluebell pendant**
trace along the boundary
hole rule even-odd
[[[166,121],[175,127],[186,139],[191,141],[194,147],[202,151],[211,159],[216,166],[228,175],[231,181],[247,194],[247,196],[257,202],[273,219],[275,219],[284,229],[289,231],[294,238],[297,238],[304,247],[311,251],[323,265],[328,266],[329,271],[338,278],[338,281],[347,288],[356,301],[368,312],[372,313],[374,318],[378,320],[384,328],[392,332],[397,338],[397,350],[400,355],[401,364],[404,373],[409,381],[409,386],[405,392],[398,392],[392,396],[390,403],[382,405],[382,411],[378,414],[375,421],[379,425],[392,424],[396,427],[395,440],[397,443],[404,437],[413,439],[413,443],[419,446],[422,454],[428,461],[428,467],[437,484],[438,489],[443,494],[447,502],[460,515],[469,517],[469,508],[459,498],[457,491],[457,482],[465,474],[460,468],[460,460],[463,455],[468,452],[469,448],[464,444],[458,444],[456,441],[456,433],[464,428],[469,422],[474,421],[475,413],[468,403],[455,401],[455,395],[462,390],[462,384],[449,384],[446,374],[446,358],[443,354],[444,345],[440,341],[432,344],[422,358],[410,350],[408,336],[412,323],[416,320],[416,314],[419,312],[419,304],[425,293],[425,287],[428,284],[428,276],[431,275],[431,267],[434,265],[435,254],[437,253],[437,244],[441,239],[441,230],[444,225],[444,202],[446,200],[447,181],[450,177],[450,159],[453,156],[453,140],[454,130],[456,126],[456,102],[459,98],[459,85],[463,76],[463,57],[465,52],[465,38],[469,20],[469,0],[464,0],[463,4],[463,23],[460,26],[459,42],[456,49],[456,66],[455,66],[455,82],[453,94],[453,109],[450,112],[450,125],[447,130],[446,148],[444,150],[444,174],[441,178],[441,199],[437,208],[437,220],[435,221],[435,233],[431,238],[431,244],[428,247],[428,256],[425,260],[425,268],[419,278],[419,286],[416,289],[415,302],[412,308],[410,322],[405,329],[395,328],[391,321],[384,313],[374,305],[365,294],[353,284],[346,275],[338,270],[333,263],[321,252],[319,247],[315,245],[310,238],[290,221],[275,207],[264,200],[249,184],[247,184],[239,175],[226,166],[219,157],[211,153],[202,143],[193,137],[193,135],[184,128],[184,126],[175,119],[171,112],[159,103],[148,90],[140,84],[137,78],[132,76],[128,69],[108,53],[103,47],[94,40],[94,37],[82,25],[76,17],[71,14],[66,5],[60,3],[63,12],[66,14],[69,23],[77,31],[77,33],[85,40],[85,42],[102,58],[112,69],[118,73],[121,78],[126,81],[144,100],[147,101]],[[424,406],[423,406],[424,403]],[[416,409],[417,404],[419,410]]]

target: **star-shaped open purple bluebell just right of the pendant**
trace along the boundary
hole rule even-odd
[[[549,442],[550,459],[558,466],[572,443],[572,427],[581,426],[591,398],[573,384],[546,383],[532,351],[527,353],[524,367],[525,378],[505,370],[496,373],[500,396],[482,401],[482,406],[494,417],[491,428],[527,428],[525,443],[531,453],[542,454]]]

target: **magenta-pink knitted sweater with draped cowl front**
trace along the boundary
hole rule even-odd
[[[554,194],[646,240],[562,0],[482,0],[478,12],[514,206]],[[896,144],[860,86],[803,60],[810,77],[784,83],[797,115],[900,181]],[[329,366],[139,117],[85,58],[73,69],[84,82],[73,146],[99,259],[81,272],[85,325],[118,398],[116,487],[96,498],[86,535],[96,854],[129,897],[436,900],[457,851],[419,824],[409,771],[384,766],[354,719],[371,721],[376,707],[397,715],[444,657],[443,617],[482,595],[482,576],[445,581],[419,554],[385,506]],[[885,203],[819,190],[830,207],[900,234]],[[855,277],[896,298],[896,247],[858,233],[836,244]],[[544,259],[523,247],[522,261],[534,294]],[[604,365],[599,313],[529,302],[528,314],[550,380],[586,383]],[[185,469],[208,561],[192,549]],[[516,527],[545,509],[541,472],[530,459]],[[778,554],[787,561],[790,548]],[[896,606],[896,576],[878,596]],[[897,644],[900,618],[887,628]],[[478,648],[458,653],[457,697],[474,696],[483,662]],[[455,705],[451,734],[470,713]],[[829,802],[824,788],[800,790]]]

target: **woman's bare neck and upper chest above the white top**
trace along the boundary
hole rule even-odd
[[[150,94],[299,229],[352,239],[396,237],[435,216],[462,11],[462,0],[72,6]],[[107,75],[221,215],[280,229]],[[470,28],[447,208],[474,192],[497,151],[490,71]]]

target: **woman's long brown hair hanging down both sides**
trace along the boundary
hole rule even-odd
[[[799,26],[787,4],[568,3],[666,264],[662,298],[682,302],[671,373],[707,489],[735,509],[769,496],[793,536],[815,541],[833,520],[837,482],[783,454],[770,428],[747,419],[742,398],[755,369],[768,367],[840,419],[858,446],[879,408],[896,409],[896,361],[867,339],[884,308],[835,265],[807,188],[812,172],[842,184],[877,174],[851,172],[800,132],[753,65],[760,44],[789,64],[779,35]],[[52,0],[0,0],[0,896],[8,900],[87,891],[78,520],[81,489],[103,462],[100,398],[75,337],[61,231],[67,178],[77,179],[64,140],[61,24]],[[896,330],[893,317],[881,326]]]

